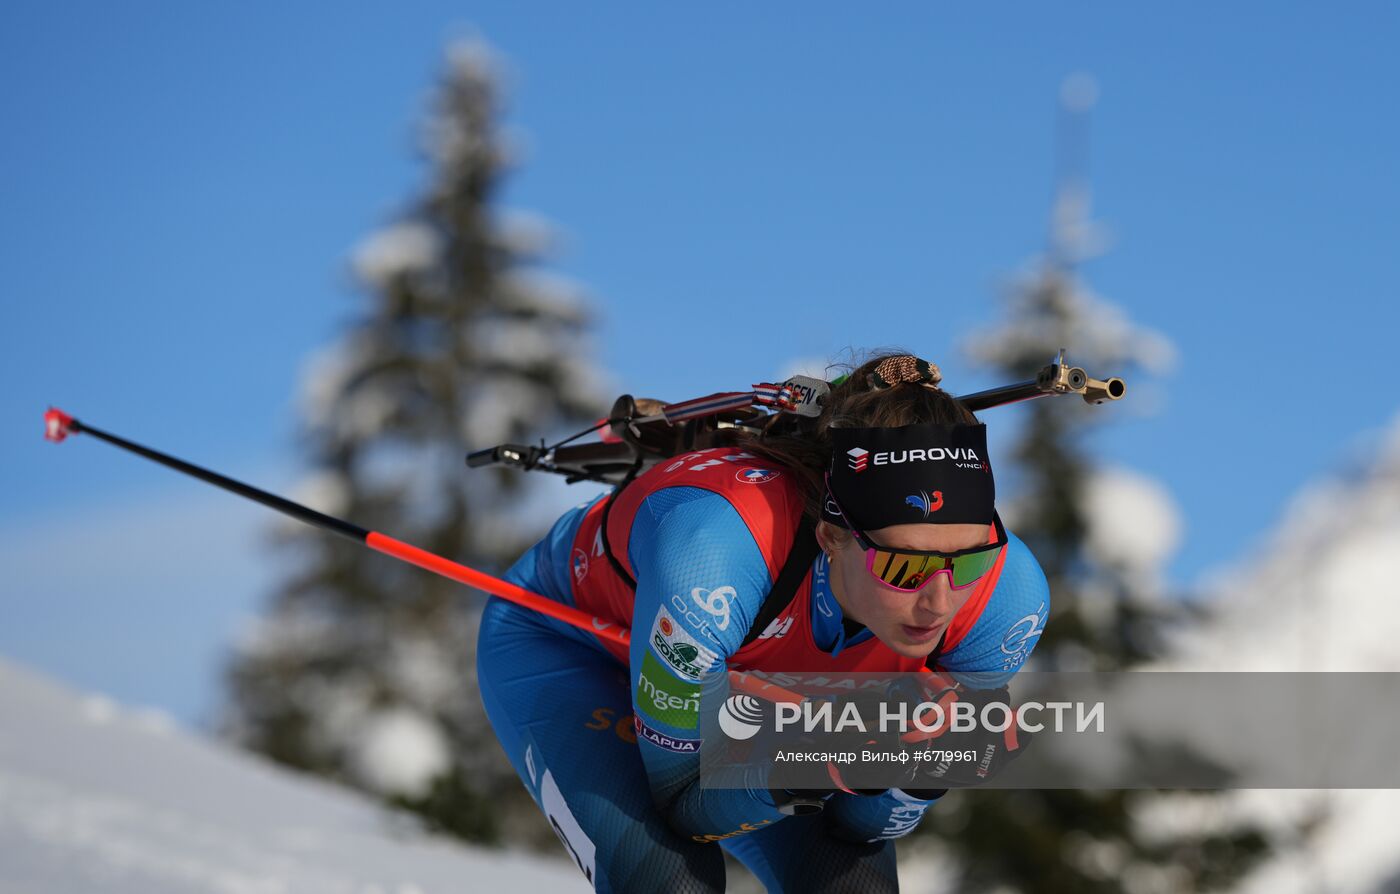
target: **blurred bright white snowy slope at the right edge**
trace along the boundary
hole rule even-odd
[[[1228,495],[1221,505],[1228,511]],[[1400,417],[1371,456],[1305,487],[1274,532],[1205,586],[1215,616],[1163,669],[1400,672]],[[1400,891],[1397,790],[1240,792],[1214,820],[1309,810],[1327,817],[1317,834],[1287,846],[1242,893]]]

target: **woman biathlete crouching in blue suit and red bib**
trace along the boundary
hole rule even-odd
[[[1049,611],[994,509],[986,430],[909,355],[834,385],[797,434],[662,462],[567,512],[508,572],[630,651],[491,599],[477,672],[501,746],[598,891],[896,891],[893,839],[942,790],[706,789],[697,681],[724,666],[1004,684]]]

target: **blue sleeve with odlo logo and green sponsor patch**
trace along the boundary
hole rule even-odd
[[[773,585],[748,525],[720,494],[662,488],[638,508],[627,558],[637,578],[637,747],[657,807],[692,837],[781,818],[762,781],[749,789],[697,785],[701,683],[728,687],[725,659],[739,651]]]

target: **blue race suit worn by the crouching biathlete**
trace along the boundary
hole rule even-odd
[[[762,516],[752,499],[741,499],[748,497],[742,485],[795,485],[746,453],[701,450],[682,460],[693,464],[657,467],[629,485],[624,492],[637,488],[630,509],[613,511],[606,529],[615,547],[624,543],[623,564],[636,579],[636,595],[626,590],[631,604],[613,613],[630,609],[616,618],[631,630],[626,655],[529,609],[498,597],[487,603],[477,679],[491,726],[598,891],[722,891],[720,848],[770,891],[896,891],[893,839],[913,831],[932,800],[899,789],[881,796],[837,792],[822,813],[784,816],[766,788],[696,785],[699,705],[692,695],[699,672],[783,638],[795,644],[801,637],[804,648],[833,666],[843,655],[883,645],[868,630],[848,631],[826,557],[818,555],[794,610],[746,646],[776,565],[773,539],[755,530]],[[738,485],[714,484],[725,476]],[[780,513],[795,505],[788,497]],[[596,533],[608,499],[564,513],[507,579],[606,617],[606,606],[581,596],[588,578],[613,574]],[[941,670],[976,679],[979,687],[1000,686],[1022,666],[1050,607],[1044,575],[1015,536],[987,590],[955,617],[938,659]],[[669,634],[661,637],[661,630]],[[668,648],[675,642],[692,648],[678,658]],[[738,663],[791,669],[756,667],[742,656]]]

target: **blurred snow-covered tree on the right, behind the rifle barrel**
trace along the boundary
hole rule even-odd
[[[1082,147],[1093,84],[1063,91],[1063,146]],[[1007,319],[972,339],[970,354],[1007,382],[1035,378],[1060,348],[1091,375],[1123,375],[1131,389],[1165,371],[1172,344],[1093,294],[1078,267],[1103,250],[1082,172],[1061,162],[1050,248],[1009,292]],[[1137,375],[1134,375],[1137,374]],[[1095,427],[1121,413],[1078,397],[1021,404],[1014,446],[1002,455],[1007,526],[1035,553],[1050,582],[1051,611],[1032,670],[1126,670],[1159,653],[1179,600],[1162,565],[1177,537],[1165,488],[1092,460]],[[1033,747],[1033,746],[1032,746]],[[953,792],[930,813],[951,841],[960,891],[1205,891],[1233,883],[1266,849],[1256,827],[1186,827],[1158,834],[1140,817],[1154,792]],[[1215,797],[1204,795],[1200,797]]]

